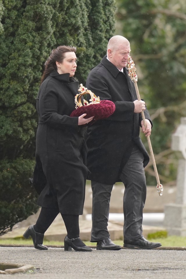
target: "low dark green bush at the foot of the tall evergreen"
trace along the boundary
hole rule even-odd
[[[28,175],[34,164],[34,161],[20,158],[11,162],[1,160],[0,235],[38,210],[36,192],[28,185]]]

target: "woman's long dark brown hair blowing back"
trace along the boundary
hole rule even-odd
[[[45,68],[44,68],[44,72],[43,72],[43,75],[41,78],[41,83],[45,80],[45,78],[47,78],[47,76],[49,76],[49,74],[53,70],[57,70],[56,61],[61,63],[63,61],[63,59],[65,58],[65,52],[69,52],[69,51],[76,52],[76,47],[60,46],[60,47],[57,47],[57,49],[53,49],[51,51],[49,58],[44,63]]]

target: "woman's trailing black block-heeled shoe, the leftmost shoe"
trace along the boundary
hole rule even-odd
[[[33,225],[28,227],[28,229],[26,230],[26,232],[24,233],[23,236],[26,239],[29,238],[30,236],[32,237],[35,249],[38,249],[38,250],[48,250],[48,247],[43,245],[44,233],[35,232]]]

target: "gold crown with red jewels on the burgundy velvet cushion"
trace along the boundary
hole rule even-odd
[[[87,88],[84,87],[82,83],[80,84],[80,87],[79,87],[78,91],[81,92],[81,93],[76,94],[76,96],[75,96],[75,104],[76,104],[75,108],[76,109],[79,108],[79,107],[82,107],[83,105],[92,105],[92,104],[99,104],[100,103],[99,96],[96,97],[96,95],[92,91],[87,90]],[[87,100],[83,99],[83,104],[82,104],[81,103],[81,96],[83,96],[85,94],[90,94],[90,97],[91,97],[90,100],[89,100],[90,103]]]

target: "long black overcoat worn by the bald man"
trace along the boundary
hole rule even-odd
[[[119,71],[105,56],[92,69],[86,83],[96,96],[111,100],[116,106],[110,117],[88,128],[87,140],[87,167],[91,172],[88,179],[110,185],[121,181],[119,175],[129,159],[133,144],[137,144],[144,155],[144,167],[149,162],[149,155],[139,137],[142,116],[134,113],[135,87],[128,76],[128,69],[123,70],[124,73]],[[144,114],[150,120],[147,109]]]

